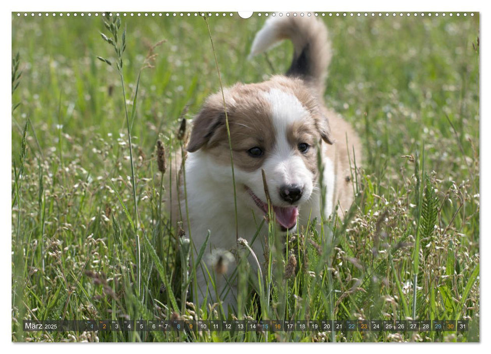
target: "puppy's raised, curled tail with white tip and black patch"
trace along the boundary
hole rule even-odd
[[[332,55],[324,23],[306,14],[303,17],[271,17],[257,32],[249,58],[265,52],[283,39],[290,39],[294,48],[286,75],[303,79],[322,96]]]

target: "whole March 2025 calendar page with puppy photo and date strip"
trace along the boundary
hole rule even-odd
[[[479,12],[11,19],[13,342],[479,342]]]

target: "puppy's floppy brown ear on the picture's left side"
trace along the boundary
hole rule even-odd
[[[225,124],[223,103],[208,100],[193,119],[193,128],[186,150],[195,152],[212,141],[216,130]]]

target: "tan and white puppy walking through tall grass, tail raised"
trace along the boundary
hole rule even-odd
[[[205,259],[210,254],[236,250],[241,237],[262,267],[267,223],[275,223],[279,235],[292,233],[309,219],[321,220],[321,210],[328,217],[336,205],[342,217],[353,201],[353,159],[361,161],[361,145],[349,124],[323,104],[331,59],[327,29],[314,17],[270,18],[256,34],[250,57],[282,39],[294,46],[288,72],[260,83],[237,83],[209,96],[193,120],[184,165],[175,159],[173,168],[172,183],[177,180],[178,189],[172,193],[172,223],[183,222],[195,260],[210,232],[207,255],[196,265],[194,300],[223,301],[226,312],[229,305],[237,306],[235,261],[222,267],[226,259],[220,254],[209,264]],[[181,170],[176,178],[175,170],[181,168],[185,173]],[[274,217],[260,228],[268,199]],[[249,260],[254,267],[255,259]]]

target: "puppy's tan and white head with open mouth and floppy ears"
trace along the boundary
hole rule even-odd
[[[332,144],[327,118],[298,79],[277,76],[256,84],[237,84],[210,96],[194,119],[187,146],[212,159],[217,180],[228,178],[229,122],[238,199],[267,212],[266,184],[283,231],[296,226],[298,207],[310,198],[318,173],[317,145]]]

